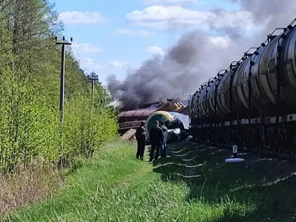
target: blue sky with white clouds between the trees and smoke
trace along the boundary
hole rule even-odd
[[[184,33],[200,27],[207,32],[213,9],[239,11],[238,4],[226,0],[50,2],[55,2],[64,22],[65,36],[73,36],[83,62],[99,75],[103,84],[111,73],[123,80],[126,70],[139,67],[156,54],[163,56]],[[226,19],[224,17],[222,20]],[[73,52],[77,56],[74,48]],[[81,67],[86,69],[82,63]]]

